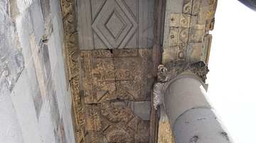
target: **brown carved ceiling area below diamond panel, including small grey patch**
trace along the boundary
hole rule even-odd
[[[89,142],[149,142],[151,49],[81,52]]]

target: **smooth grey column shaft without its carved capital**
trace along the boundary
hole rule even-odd
[[[232,142],[211,107],[200,79],[179,75],[169,82],[164,103],[176,143]]]

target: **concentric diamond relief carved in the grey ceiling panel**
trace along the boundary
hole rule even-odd
[[[138,24],[122,1],[107,1],[92,29],[108,48],[123,48],[137,31]]]

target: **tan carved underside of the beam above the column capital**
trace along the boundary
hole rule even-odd
[[[164,35],[165,43],[162,63],[198,62],[208,47],[205,37],[213,30],[217,0],[183,0],[181,13],[171,13],[166,19],[169,35]],[[167,41],[167,42],[166,42]]]

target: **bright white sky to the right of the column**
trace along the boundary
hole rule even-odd
[[[211,34],[208,95],[235,142],[256,142],[256,12],[219,0]]]

